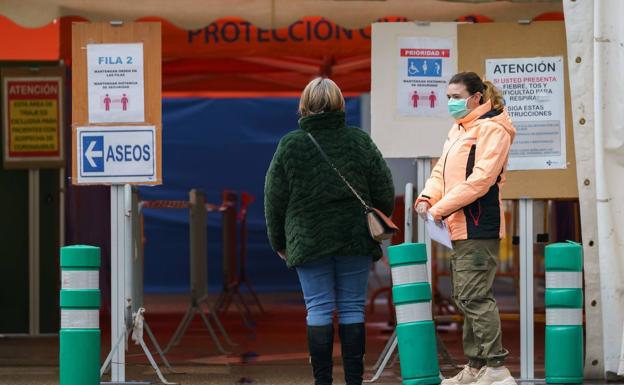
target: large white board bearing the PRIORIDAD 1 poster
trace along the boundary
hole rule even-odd
[[[374,23],[371,40],[375,144],[386,158],[439,157],[453,125],[446,82],[457,72],[457,23]]]

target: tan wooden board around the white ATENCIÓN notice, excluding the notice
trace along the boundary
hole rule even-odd
[[[565,120],[567,168],[510,171],[504,199],[578,198],[570,87],[563,22],[485,23],[458,26],[459,71],[485,74],[485,61],[495,58],[563,56],[565,61]]]

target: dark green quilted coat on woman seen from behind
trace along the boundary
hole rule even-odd
[[[390,215],[392,175],[377,146],[344,112],[302,118],[280,141],[266,175],[264,211],[271,247],[289,267],[327,256],[381,258],[364,209],[307,136],[310,132],[368,205]]]

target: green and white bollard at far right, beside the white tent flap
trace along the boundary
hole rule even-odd
[[[546,246],[546,383],[583,383],[583,249]]]

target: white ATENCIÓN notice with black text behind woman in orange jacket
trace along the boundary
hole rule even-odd
[[[563,57],[486,60],[517,133],[509,170],[567,167]]]

